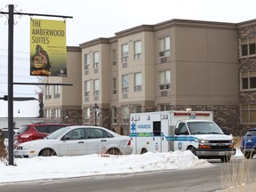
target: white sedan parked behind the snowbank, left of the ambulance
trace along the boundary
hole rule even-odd
[[[14,157],[82,156],[88,154],[132,154],[131,138],[99,127],[76,125],[52,132],[42,140],[21,143]]]

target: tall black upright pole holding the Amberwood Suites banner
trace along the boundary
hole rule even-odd
[[[14,5],[9,4],[8,19],[8,154],[9,165],[13,164],[13,10]]]

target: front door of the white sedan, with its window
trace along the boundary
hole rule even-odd
[[[84,128],[73,129],[60,140],[60,156],[81,156],[86,154]]]

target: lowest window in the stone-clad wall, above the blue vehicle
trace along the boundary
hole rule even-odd
[[[256,104],[241,105],[241,124],[256,124]]]

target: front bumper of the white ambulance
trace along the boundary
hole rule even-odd
[[[207,158],[220,158],[221,156],[235,156],[236,148],[232,150],[205,150],[197,149],[196,156]]]

